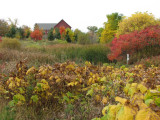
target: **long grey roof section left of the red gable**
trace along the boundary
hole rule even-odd
[[[54,28],[57,23],[36,23],[39,28],[43,28],[43,30],[50,30],[51,28]]]

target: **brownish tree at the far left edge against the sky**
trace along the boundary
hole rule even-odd
[[[0,36],[5,36],[9,32],[9,25],[5,20],[0,19]]]

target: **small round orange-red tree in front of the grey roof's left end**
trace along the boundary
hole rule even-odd
[[[34,30],[31,32],[31,38],[34,39],[35,41],[37,40],[42,40],[43,33],[40,30]]]

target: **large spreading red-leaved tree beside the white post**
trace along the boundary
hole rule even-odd
[[[150,26],[141,31],[134,31],[130,34],[120,35],[114,38],[111,44],[110,60],[119,60],[126,54],[133,54],[144,48],[153,49],[160,46],[160,26]]]

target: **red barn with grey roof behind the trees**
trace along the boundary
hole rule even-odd
[[[59,23],[36,23],[35,25],[38,25],[39,29],[43,29],[45,32],[44,38],[47,38],[48,32],[51,28],[55,29],[64,26],[65,28],[71,29],[71,26],[68,25],[63,19]]]

